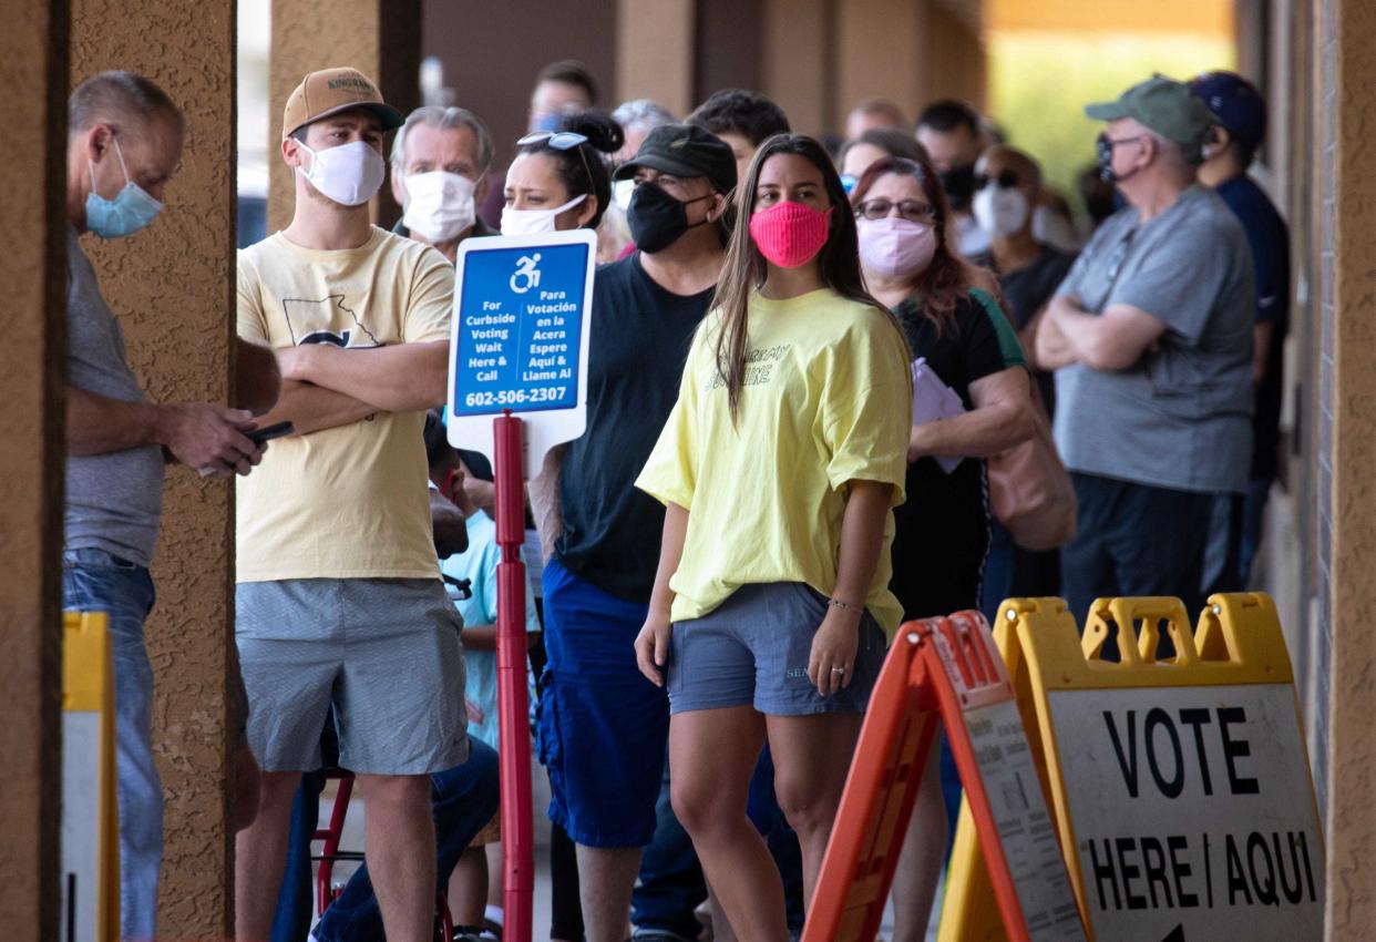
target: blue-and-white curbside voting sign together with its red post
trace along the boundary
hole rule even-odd
[[[596,233],[465,240],[454,274],[449,442],[493,459],[497,485],[497,713],[501,737],[505,938],[530,942],[530,697],[526,686],[524,482],[588,426]],[[512,413],[519,412],[523,417]],[[493,421],[493,449],[484,448]]]

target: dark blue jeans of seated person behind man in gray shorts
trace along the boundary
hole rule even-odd
[[[464,850],[493,819],[499,806],[497,751],[469,741],[468,762],[431,775],[431,810],[435,814],[436,883],[440,892]],[[292,806],[292,833],[286,872],[272,919],[272,942],[301,942],[311,927],[311,833],[319,817],[322,773],[303,775]],[[366,800],[366,795],[363,796]],[[383,913],[361,866],[338,899],[330,903],[314,932],[321,942],[383,942]]]

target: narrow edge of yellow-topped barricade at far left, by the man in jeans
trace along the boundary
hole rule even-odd
[[[62,618],[62,934],[120,938],[114,662],[103,611]]]

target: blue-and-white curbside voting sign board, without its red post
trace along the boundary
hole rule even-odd
[[[527,478],[583,432],[596,234],[471,238],[458,248],[449,439],[493,457],[493,417],[526,420]]]

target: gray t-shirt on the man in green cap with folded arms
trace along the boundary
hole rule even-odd
[[[1072,471],[1200,493],[1247,489],[1252,456],[1252,259],[1236,216],[1192,186],[1138,222],[1106,219],[1057,295],[1131,304],[1165,324],[1123,370],[1055,373],[1055,443]]]

